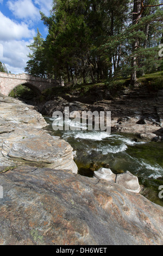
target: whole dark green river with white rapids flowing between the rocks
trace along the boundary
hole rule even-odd
[[[92,177],[100,167],[110,168],[115,174],[128,170],[139,178],[143,196],[163,206],[159,198],[159,187],[163,185],[162,142],[145,143],[136,135],[102,131],[53,131],[54,119],[45,119],[52,135],[65,139],[76,151],[74,161],[80,175]]]

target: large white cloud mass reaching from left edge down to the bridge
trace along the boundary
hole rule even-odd
[[[28,61],[27,55],[35,35],[35,29],[29,29],[24,22],[17,23],[4,16],[0,11],[0,45],[3,48],[0,61],[5,64],[8,71],[14,74],[24,72]]]

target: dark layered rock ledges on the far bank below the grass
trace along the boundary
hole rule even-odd
[[[163,139],[163,90],[149,92],[147,88],[125,89],[112,98],[108,91],[97,90],[91,95],[61,95],[37,106],[43,115],[52,117],[54,111],[110,111],[111,130],[133,133],[145,141]],[[101,99],[101,100],[99,100]]]

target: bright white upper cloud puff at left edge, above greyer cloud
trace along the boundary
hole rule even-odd
[[[33,38],[34,29],[29,29],[24,22],[16,23],[4,16],[0,11],[0,40],[13,40],[22,38]]]

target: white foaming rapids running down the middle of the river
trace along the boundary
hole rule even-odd
[[[55,118],[49,118],[51,121],[56,120]],[[58,118],[59,120],[59,118]],[[80,123],[72,123],[71,120],[68,120],[68,123],[72,126],[80,127],[82,128],[82,124]],[[60,136],[60,135],[59,135]],[[163,175],[163,168],[158,163],[151,163],[148,162],[145,159],[139,159],[134,156],[130,156],[128,151],[128,147],[134,147],[134,145],[144,144],[146,142],[135,142],[132,138],[120,135],[120,134],[114,134],[114,133],[107,133],[104,131],[82,131],[82,130],[69,130],[69,131],[63,131],[61,137],[63,139],[69,139],[71,138],[71,142],[73,145],[73,141],[77,143],[77,147],[79,145],[79,148],[82,150],[85,150],[88,157],[91,156],[91,154],[96,152],[100,155],[107,155],[108,159],[110,159],[110,155],[114,155],[115,159],[117,157],[124,157],[124,160],[127,161],[127,163],[124,162],[124,168],[128,168],[129,170],[133,170],[133,172],[136,173],[136,175],[142,176],[142,178],[153,178],[157,179],[162,177]],[[83,148],[82,148],[83,147]],[[130,149],[131,150],[131,149]],[[122,153],[122,155],[121,155]],[[109,155],[110,154],[110,155]],[[116,154],[118,154],[116,156]],[[1,165],[1,163],[0,163]]]

